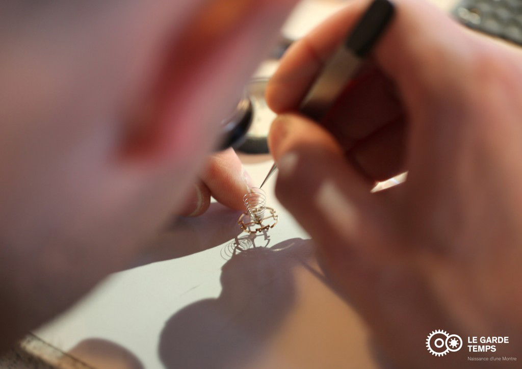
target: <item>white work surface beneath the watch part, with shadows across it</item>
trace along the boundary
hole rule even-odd
[[[299,37],[342,3],[304,1],[285,34]],[[316,16],[303,18],[309,14]],[[261,183],[270,157],[241,158]],[[248,240],[240,213],[212,204],[34,334],[92,367],[375,367],[364,325],[324,280],[310,237],[276,200],[274,182],[265,189],[279,223],[266,235]]]

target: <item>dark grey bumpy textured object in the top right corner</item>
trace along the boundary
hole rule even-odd
[[[453,15],[472,29],[522,45],[522,0],[461,0]]]

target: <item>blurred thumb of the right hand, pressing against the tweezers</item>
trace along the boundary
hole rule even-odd
[[[284,114],[272,123],[269,146],[279,168],[277,197],[323,252],[371,252],[380,229],[377,198],[334,137],[303,116]]]

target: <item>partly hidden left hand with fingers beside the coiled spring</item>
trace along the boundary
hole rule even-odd
[[[253,187],[233,149],[214,154],[208,160],[204,174],[193,184],[181,215],[197,217],[207,211],[210,196],[232,209],[244,210],[243,196]]]

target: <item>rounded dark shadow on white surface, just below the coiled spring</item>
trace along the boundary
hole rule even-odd
[[[167,368],[231,368],[263,352],[295,303],[292,269],[312,254],[310,240],[252,247],[222,267],[217,299],[186,306],[165,323],[159,354]]]

